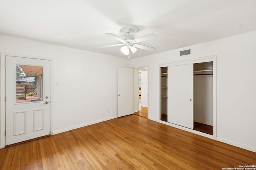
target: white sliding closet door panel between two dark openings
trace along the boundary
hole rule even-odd
[[[167,121],[193,129],[193,64],[168,66]]]

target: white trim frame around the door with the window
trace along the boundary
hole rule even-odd
[[[13,56],[13,57],[23,57],[23,58],[30,58],[30,59],[40,59],[40,60],[49,60],[50,61],[50,100],[53,101],[53,59],[52,58],[46,58],[46,57],[38,57],[38,56],[32,56],[32,55],[21,55],[21,54],[13,54],[13,53],[0,53],[0,102],[1,102],[1,110],[0,110],[0,146],[1,148],[4,148],[5,143],[5,136],[4,131],[6,127],[5,123],[5,114],[6,114],[6,108],[5,108],[5,101],[4,97],[6,95],[6,73],[5,73],[5,57],[6,56]],[[8,99],[7,99],[8,100]],[[52,132],[53,127],[53,104],[50,104],[50,132]],[[52,133],[51,133],[52,134]]]

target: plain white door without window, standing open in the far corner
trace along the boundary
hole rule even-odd
[[[117,116],[133,114],[133,69],[117,68]]]

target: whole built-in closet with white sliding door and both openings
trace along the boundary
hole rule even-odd
[[[165,115],[169,123],[213,135],[215,58],[209,58],[160,67],[162,121]]]

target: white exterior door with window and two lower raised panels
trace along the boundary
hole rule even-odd
[[[6,56],[6,145],[49,134],[50,61]]]

